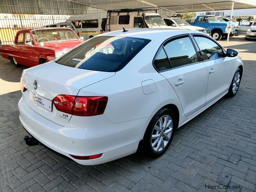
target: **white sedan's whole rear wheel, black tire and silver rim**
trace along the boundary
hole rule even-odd
[[[172,110],[159,110],[151,119],[144,135],[147,155],[153,158],[163,155],[172,142],[175,128],[176,120]]]

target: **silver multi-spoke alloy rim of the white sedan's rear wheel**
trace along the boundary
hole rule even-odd
[[[151,147],[153,151],[162,151],[172,136],[172,118],[164,115],[158,119],[151,133]]]

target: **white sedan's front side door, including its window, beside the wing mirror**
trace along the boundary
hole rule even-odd
[[[230,86],[232,61],[223,48],[208,36],[194,34],[208,71],[206,105],[223,95]]]

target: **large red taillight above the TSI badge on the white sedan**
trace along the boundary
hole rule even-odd
[[[53,99],[55,108],[76,116],[95,116],[104,113],[108,97],[58,95]]]

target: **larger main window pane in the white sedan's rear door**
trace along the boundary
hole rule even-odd
[[[164,44],[164,49],[171,61],[172,68],[199,61],[189,36],[172,39]]]

